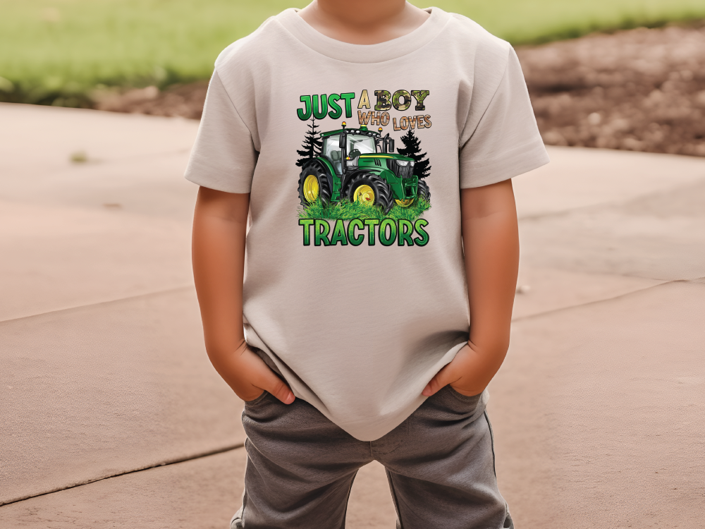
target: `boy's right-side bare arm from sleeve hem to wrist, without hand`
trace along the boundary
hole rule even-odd
[[[462,190],[461,200],[469,343],[488,357],[487,369],[496,372],[509,346],[519,269],[519,229],[511,181]]]

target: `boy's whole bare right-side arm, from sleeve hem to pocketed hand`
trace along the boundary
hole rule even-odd
[[[464,395],[482,393],[504,361],[519,269],[519,228],[512,181],[462,189],[470,339],[424,389],[446,384]]]

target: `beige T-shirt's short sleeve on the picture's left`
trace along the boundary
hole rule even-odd
[[[215,71],[184,176],[206,188],[250,193],[257,155],[252,133]]]

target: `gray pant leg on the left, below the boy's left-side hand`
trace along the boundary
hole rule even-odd
[[[369,443],[301,399],[286,405],[266,392],[245,403],[243,425],[245,494],[231,528],[344,528],[355,474],[372,461]]]

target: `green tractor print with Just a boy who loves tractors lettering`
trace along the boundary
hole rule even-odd
[[[358,246],[366,238],[371,246],[429,242],[429,222],[422,215],[431,208],[426,180],[431,162],[415,130],[431,128],[431,116],[423,114],[430,92],[372,93],[374,109],[367,90],[359,98],[355,92],[300,96],[297,116],[307,130],[296,165],[305,246]],[[414,110],[422,114],[409,116],[414,100]],[[338,121],[343,111],[346,119],[353,116],[355,101],[357,126]],[[405,133],[395,140],[384,133],[389,125]],[[397,141],[403,147],[395,152]]]

